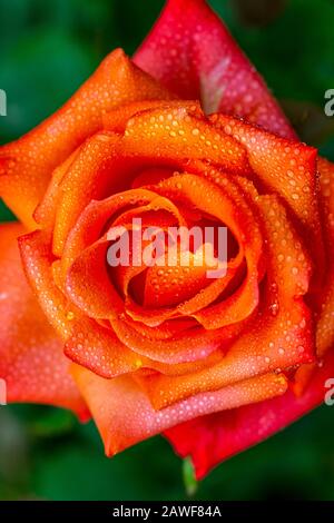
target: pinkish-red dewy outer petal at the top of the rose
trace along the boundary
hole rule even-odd
[[[204,0],[169,0],[135,62],[206,112],[227,112],[294,138],[261,76]]]

